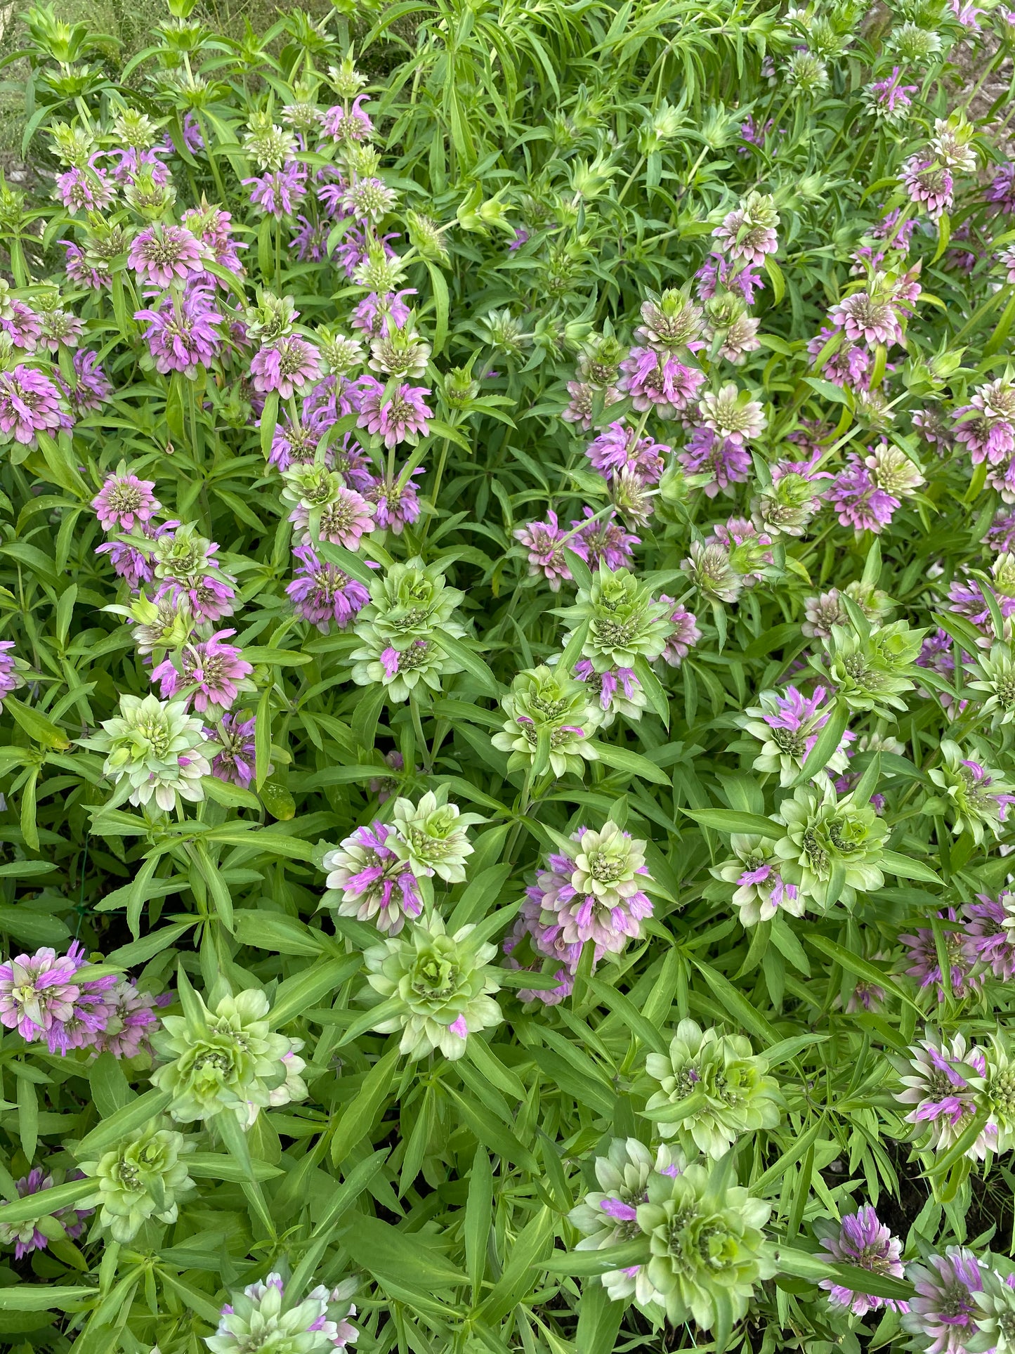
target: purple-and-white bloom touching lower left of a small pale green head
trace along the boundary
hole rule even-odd
[[[418,917],[422,899],[415,875],[388,845],[394,829],[374,821],[323,857],[328,887],[341,891],[340,917],[375,922],[397,936],[406,917]]]

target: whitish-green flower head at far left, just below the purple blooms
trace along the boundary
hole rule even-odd
[[[81,739],[83,747],[106,753],[103,772],[118,785],[112,803],[156,806],[162,812],[179,799],[196,803],[204,798],[202,776],[211,773],[204,724],[187,714],[184,700],[156,696],[120,696],[120,712],[103,720],[97,733]]]

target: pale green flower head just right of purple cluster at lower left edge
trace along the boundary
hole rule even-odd
[[[162,1028],[152,1036],[165,1059],[152,1074],[152,1085],[173,1097],[169,1113],[177,1122],[230,1110],[249,1125],[260,1109],[306,1095],[299,1079],[303,1060],[292,1066],[302,1040],[272,1033],[264,992],[223,997],[211,1011],[184,983],[181,975],[185,1014],[164,1016]]]

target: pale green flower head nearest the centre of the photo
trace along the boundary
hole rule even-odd
[[[512,682],[501,701],[508,720],[491,742],[510,753],[508,770],[528,769],[536,760],[540,738],[548,746],[549,769],[555,776],[585,774],[585,761],[598,756],[591,738],[602,723],[602,711],[589,700],[585,682],[551,668],[526,668]]]

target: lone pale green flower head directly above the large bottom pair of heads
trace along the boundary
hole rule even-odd
[[[650,1053],[646,1060],[658,1086],[646,1109],[662,1137],[677,1137],[692,1156],[719,1158],[742,1133],[780,1122],[782,1095],[767,1070],[746,1034],[702,1030],[682,1020],[669,1055]]]

